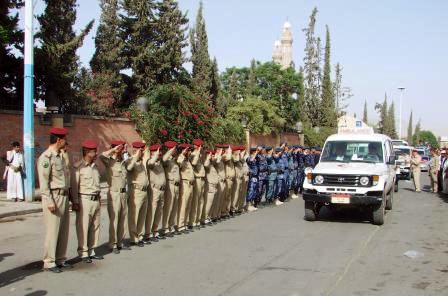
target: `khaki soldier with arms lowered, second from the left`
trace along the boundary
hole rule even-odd
[[[97,149],[98,144],[95,141],[84,141],[82,143],[83,159],[73,165],[73,202],[79,205],[76,213],[78,254],[85,263],[92,263],[92,259],[104,259],[103,256],[95,255],[101,221],[100,172],[95,164]]]

